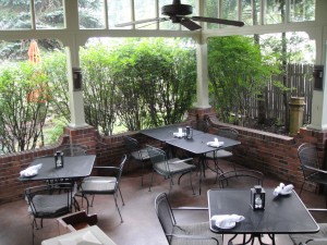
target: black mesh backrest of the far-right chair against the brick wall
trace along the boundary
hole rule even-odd
[[[299,146],[298,156],[301,162],[301,168],[304,177],[310,176],[313,173],[316,173],[316,171],[310,170],[310,168],[320,169],[318,151],[316,146],[314,146],[313,144],[304,143],[301,146]]]

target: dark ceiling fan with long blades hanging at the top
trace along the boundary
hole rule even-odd
[[[172,4],[164,5],[161,8],[161,14],[167,15],[168,17],[154,17],[154,19],[146,19],[135,22],[126,22],[117,24],[116,27],[125,27],[129,25],[136,25],[136,24],[144,24],[148,22],[165,22],[171,21],[172,23],[180,23],[181,25],[185,26],[190,30],[201,29],[201,26],[196,24],[196,22],[208,22],[208,23],[216,23],[216,24],[223,24],[223,25],[233,25],[233,26],[243,26],[244,22],[239,21],[230,21],[223,19],[216,19],[216,17],[203,17],[203,16],[185,16],[192,14],[193,8],[189,4],[182,4],[181,0],[173,0]]]

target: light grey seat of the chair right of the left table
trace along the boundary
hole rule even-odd
[[[83,180],[82,189],[84,194],[111,194],[116,184],[113,176],[88,176]]]

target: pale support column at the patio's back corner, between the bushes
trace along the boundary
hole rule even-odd
[[[210,108],[209,90],[208,90],[208,59],[207,44],[202,38],[197,40],[196,48],[196,103],[195,108]]]

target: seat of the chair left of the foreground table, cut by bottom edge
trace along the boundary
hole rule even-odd
[[[192,224],[179,224],[173,228],[172,234],[175,235],[194,235],[194,236],[205,236],[215,237],[219,244],[222,244],[222,238],[220,234],[215,234],[210,232],[209,222],[192,223]],[[173,236],[171,240],[171,245],[217,245],[215,240],[197,240],[197,238],[179,238]]]

